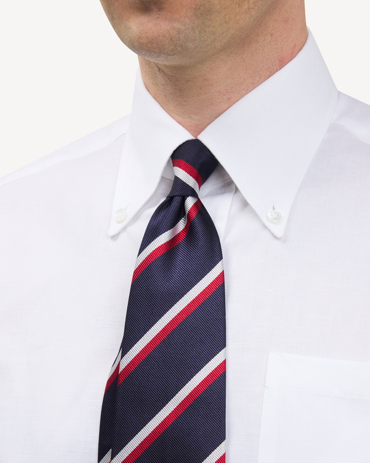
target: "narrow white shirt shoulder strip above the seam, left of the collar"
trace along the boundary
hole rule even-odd
[[[0,187],[18,181],[25,177],[38,174],[43,170],[49,169],[50,167],[56,166],[59,163],[65,163],[74,159],[88,156],[99,150],[113,144],[118,138],[122,137],[129,126],[129,117],[127,116],[112,122],[101,129],[74,141],[56,150],[47,156],[43,156],[36,161],[27,164],[21,169],[15,170],[14,172],[5,175],[0,178]]]

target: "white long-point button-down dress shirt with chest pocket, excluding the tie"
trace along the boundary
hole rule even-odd
[[[1,463],[96,463],[136,255],[189,138],[138,71],[130,115],[0,181]],[[227,463],[369,462],[370,106],[309,32],[198,138],[220,162],[200,198],[225,267]]]

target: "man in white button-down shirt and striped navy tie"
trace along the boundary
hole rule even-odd
[[[102,5],[131,115],[1,181],[0,461],[368,461],[369,106],[302,0]]]

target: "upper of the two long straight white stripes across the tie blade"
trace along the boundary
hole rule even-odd
[[[144,334],[144,336],[127,352],[127,354],[121,359],[119,365],[119,371],[121,372],[124,367],[131,362],[131,360],[150,342],[156,334],[164,328],[167,323],[169,323],[173,317],[175,317],[181,310],[187,306],[194,298],[200,294],[203,289],[213,282],[213,280],[220,275],[222,272],[223,265],[220,261],[207,275],[205,275],[202,280],[197,283],[190,291],[188,291],[185,296],[183,296],[176,304],[166,312],[162,318],[160,318],[157,323],[150,328],[150,330]]]

